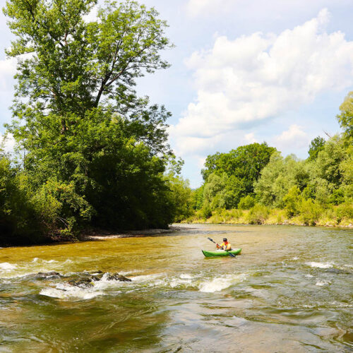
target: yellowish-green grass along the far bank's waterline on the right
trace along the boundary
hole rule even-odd
[[[268,208],[256,204],[249,210],[198,210],[184,220],[187,223],[225,223],[231,225],[318,225],[352,227],[353,205],[342,203],[325,206],[309,201],[292,215],[287,209]]]

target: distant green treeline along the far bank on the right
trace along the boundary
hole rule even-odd
[[[277,214],[278,222],[304,225],[353,222],[353,92],[337,119],[344,133],[313,139],[306,160],[283,157],[266,143],[209,155],[201,171],[204,183],[193,191],[195,213],[189,220],[213,216],[214,222],[264,223]],[[250,212],[227,212],[234,209]]]

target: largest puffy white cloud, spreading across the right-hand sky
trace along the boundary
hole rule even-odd
[[[353,42],[342,32],[326,32],[328,20],[323,9],[279,35],[218,36],[212,49],[194,52],[186,66],[194,71],[197,98],[169,128],[177,152],[200,152],[230,131],[263,124],[323,92],[352,85]]]

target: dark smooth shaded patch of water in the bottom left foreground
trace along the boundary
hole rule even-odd
[[[136,352],[158,345],[169,321],[139,294],[73,302],[35,295],[17,311],[1,320],[0,347],[13,352]]]

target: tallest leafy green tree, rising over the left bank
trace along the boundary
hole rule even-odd
[[[172,152],[164,107],[133,90],[136,78],[167,68],[166,23],[135,1],[9,0],[16,35],[16,101],[8,130],[37,186],[71,183],[93,206],[97,225],[166,226],[172,220],[162,177]],[[85,17],[86,16],[86,17]]]

